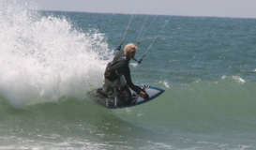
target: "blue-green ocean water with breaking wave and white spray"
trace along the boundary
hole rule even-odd
[[[132,81],[166,92],[108,110],[86,92],[101,86],[130,14],[0,3],[0,149],[256,149],[255,19],[149,15]],[[133,16],[123,48],[145,18]]]

